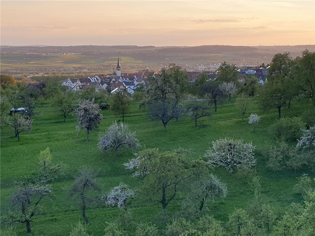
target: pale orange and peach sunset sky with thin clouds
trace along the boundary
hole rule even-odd
[[[1,45],[315,44],[315,1],[3,1]]]

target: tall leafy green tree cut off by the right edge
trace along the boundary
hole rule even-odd
[[[295,86],[305,97],[312,100],[315,110],[315,52],[303,51],[302,58],[293,66]]]

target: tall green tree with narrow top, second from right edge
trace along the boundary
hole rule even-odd
[[[259,90],[258,101],[261,109],[277,108],[279,118],[281,118],[281,108],[289,106],[295,93],[293,80],[290,78],[291,64],[292,58],[289,53],[274,55],[268,70],[268,83]]]

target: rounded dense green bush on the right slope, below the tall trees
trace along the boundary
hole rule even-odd
[[[299,117],[280,118],[270,126],[273,134],[277,138],[286,141],[296,141],[301,136],[301,129],[305,128],[305,123]]]

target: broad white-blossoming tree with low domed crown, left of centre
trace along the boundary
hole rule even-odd
[[[115,151],[117,159],[118,149],[123,147],[135,148],[140,147],[139,140],[136,139],[136,133],[129,130],[129,126],[120,122],[113,122],[106,133],[100,134],[99,149],[102,151]]]

